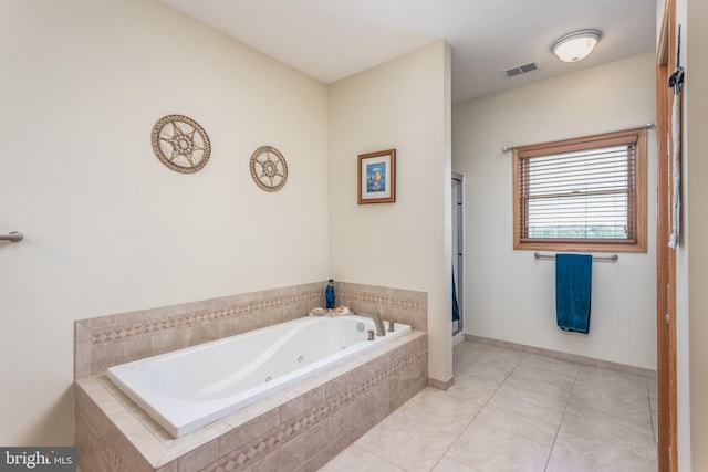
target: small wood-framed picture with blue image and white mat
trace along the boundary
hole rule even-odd
[[[396,201],[396,149],[358,156],[358,203]]]

